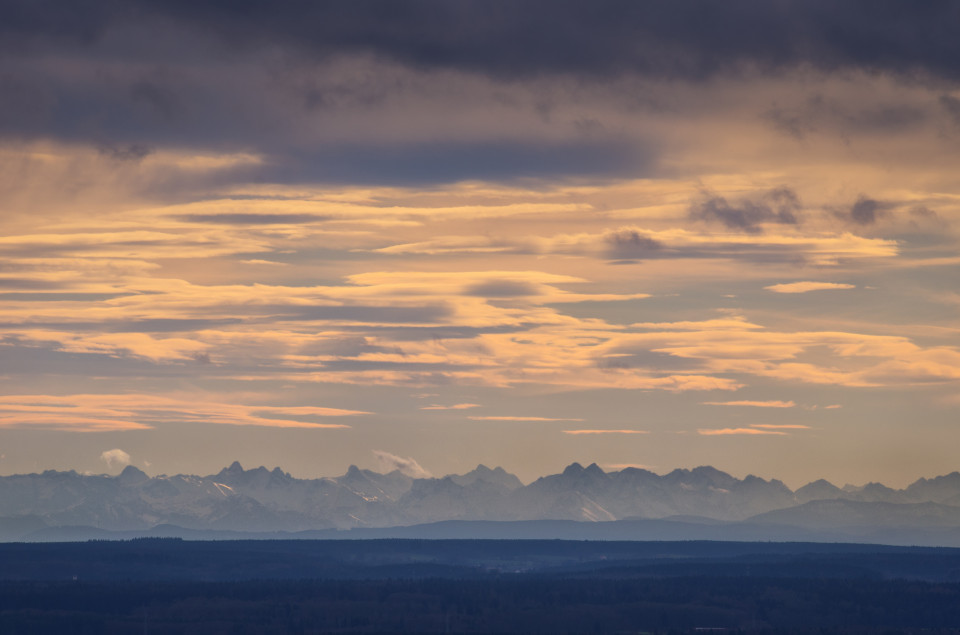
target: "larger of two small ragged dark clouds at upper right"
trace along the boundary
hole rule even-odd
[[[758,198],[746,198],[732,204],[722,196],[703,192],[700,200],[690,206],[690,217],[756,234],[763,231],[764,223],[796,225],[799,211],[800,199],[793,190],[778,187]]]

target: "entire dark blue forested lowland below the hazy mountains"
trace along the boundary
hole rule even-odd
[[[960,550],[485,540],[0,548],[0,634],[960,632]]]

